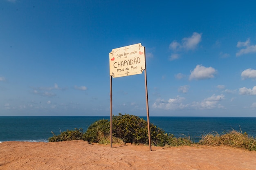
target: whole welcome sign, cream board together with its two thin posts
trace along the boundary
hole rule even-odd
[[[148,111],[148,88],[146,75],[146,54],[145,47],[139,44],[112,49],[109,53],[110,70],[110,145],[112,148],[112,77],[124,77],[145,73],[146,107],[148,122],[148,145],[151,151],[150,121]]]

